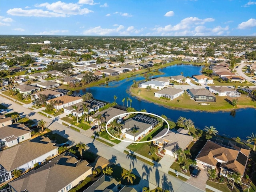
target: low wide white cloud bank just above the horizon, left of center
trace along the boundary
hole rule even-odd
[[[138,34],[139,32],[142,32],[144,28],[142,29],[135,29],[134,26],[129,26],[128,28],[124,27],[123,25],[114,25],[114,28],[102,28],[101,26],[91,28],[88,30],[84,30],[82,33],[83,35],[122,35],[122,36],[128,36],[131,34]]]

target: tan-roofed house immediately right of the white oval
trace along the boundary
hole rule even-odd
[[[184,129],[182,129],[184,130]],[[163,136],[167,129],[160,131],[153,139]],[[175,157],[175,152],[179,148],[185,150],[193,141],[194,137],[187,134],[182,134],[176,130],[169,130],[165,136],[156,139],[153,143],[160,148],[163,148],[165,154]]]

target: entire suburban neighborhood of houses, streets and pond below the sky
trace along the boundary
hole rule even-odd
[[[256,190],[255,37],[1,38],[0,192]]]

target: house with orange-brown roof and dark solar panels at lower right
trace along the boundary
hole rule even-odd
[[[196,157],[200,167],[220,168],[220,175],[226,176],[228,172],[239,172],[244,176],[250,150],[244,148],[231,148],[208,140]]]

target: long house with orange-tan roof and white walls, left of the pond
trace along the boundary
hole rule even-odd
[[[78,104],[78,103],[82,102],[83,98],[82,97],[72,97],[72,96],[69,96],[69,95],[64,95],[64,96],[60,96],[60,97],[57,97],[57,98],[50,99],[50,100],[46,101],[46,104],[50,103],[52,100],[55,102],[55,108],[57,110],[60,110],[64,107],[68,107],[68,106],[71,106],[71,105]]]

